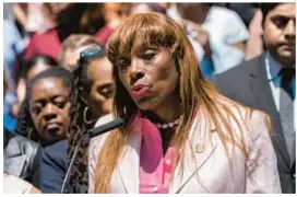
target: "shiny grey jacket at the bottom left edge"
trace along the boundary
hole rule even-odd
[[[3,138],[4,172],[26,179],[38,187],[39,146],[5,129]]]

